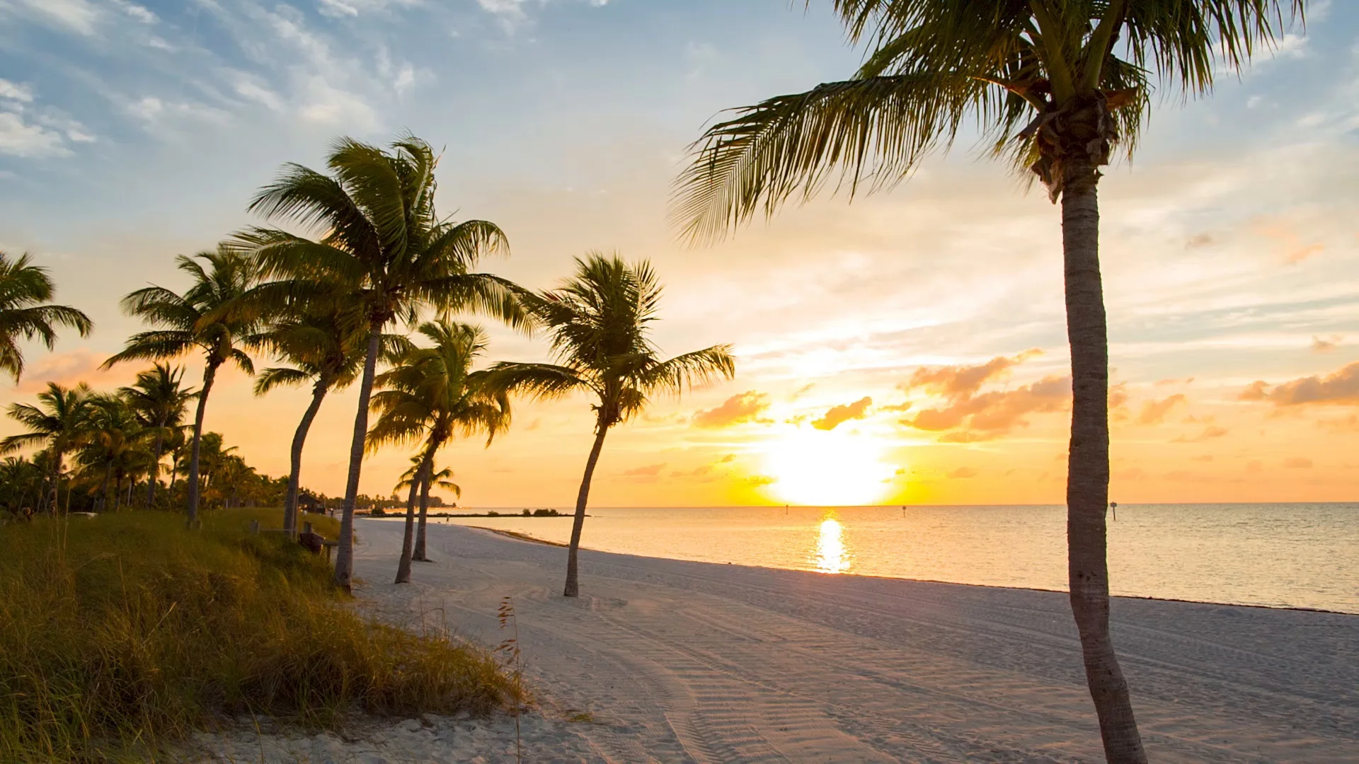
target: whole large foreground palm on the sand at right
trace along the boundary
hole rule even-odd
[[[1132,154],[1152,76],[1207,94],[1215,68],[1271,46],[1305,0],[833,0],[872,52],[845,82],[738,109],[694,144],[675,216],[696,239],[828,184],[889,188],[976,120],[996,155],[1061,201],[1072,417],[1071,608],[1109,761],[1144,761],[1109,639],[1109,363],[1099,277],[1099,167]]]

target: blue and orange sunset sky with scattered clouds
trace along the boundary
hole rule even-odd
[[[1211,98],[1158,92],[1101,182],[1120,503],[1356,499],[1359,8],[1310,8]],[[284,162],[410,131],[443,150],[440,212],[507,232],[485,269],[548,288],[590,250],[647,258],[662,351],[734,345],[734,379],[609,434],[594,504],[1061,503],[1057,208],[970,136],[889,193],[715,246],[666,222],[712,117],[862,56],[826,0],[0,0],[0,249],[96,324],[30,347],[0,404],[130,382],[96,368],[140,328],[122,295],[182,288],[174,256],[260,223],[246,204]],[[488,329],[488,362],[546,358]],[[342,492],[356,401],[326,400],[304,485]],[[207,427],[285,474],[306,402],[231,371]],[[507,435],[439,462],[465,506],[568,506],[591,426],[583,397],[519,401]],[[408,457],[371,455],[361,491],[390,493]]]

